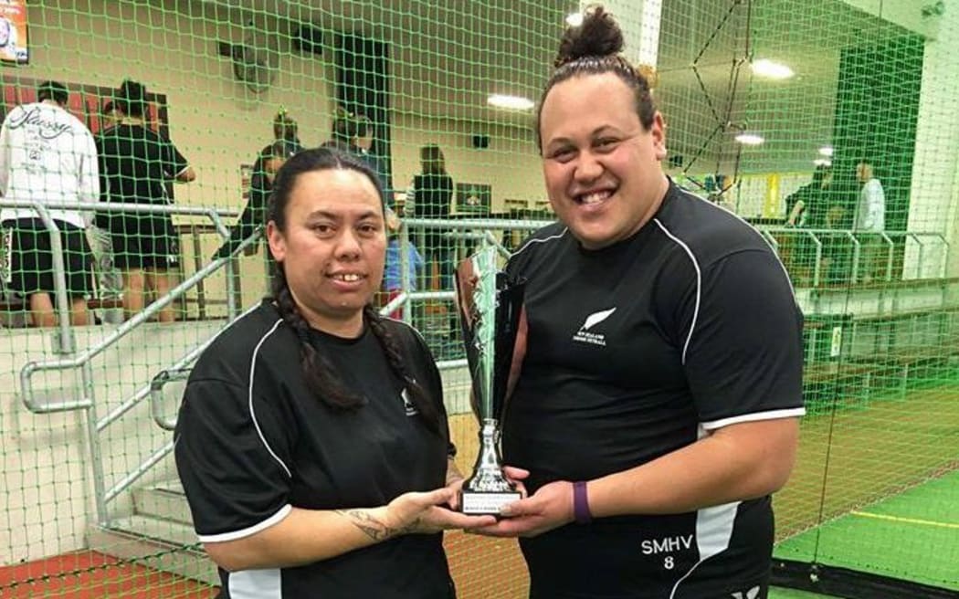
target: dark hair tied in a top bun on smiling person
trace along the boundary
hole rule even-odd
[[[553,60],[555,70],[543,88],[536,106],[536,145],[543,150],[540,137],[540,121],[543,103],[554,85],[583,75],[613,73],[633,91],[636,114],[643,128],[649,130],[656,117],[656,105],[652,100],[654,71],[645,66],[633,66],[620,54],[624,42],[622,30],[613,15],[601,6],[591,6],[583,14],[582,24],[570,27],[559,42],[559,50]]]

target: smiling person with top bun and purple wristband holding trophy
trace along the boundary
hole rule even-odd
[[[537,599],[766,597],[802,313],[759,233],[663,173],[663,115],[622,46],[589,10],[538,107],[559,222],[507,265],[526,326],[503,416],[529,495],[482,532],[524,537]]]

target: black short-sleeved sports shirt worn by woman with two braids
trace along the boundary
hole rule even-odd
[[[442,408],[439,373],[422,338],[397,321],[386,327],[411,376]],[[293,506],[375,507],[444,485],[445,420],[441,434],[429,430],[375,334],[368,327],[356,339],[317,332],[311,342],[366,405],[342,412],[309,392],[296,335],[267,302],[199,358],[180,407],[175,457],[200,541],[242,539]],[[446,599],[452,588],[441,534],[405,535],[299,567],[221,570],[221,577],[225,597]]]

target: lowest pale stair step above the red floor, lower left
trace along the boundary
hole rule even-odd
[[[132,516],[118,518],[109,526],[94,525],[88,537],[94,551],[207,585],[220,585],[217,566],[199,546],[190,524]]]

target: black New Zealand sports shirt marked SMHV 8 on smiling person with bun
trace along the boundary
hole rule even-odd
[[[630,239],[587,251],[550,225],[507,270],[527,280],[529,330],[503,454],[531,472],[530,493],[804,412],[802,313],[783,265],[744,221],[674,185]],[[521,546],[537,598],[726,599],[764,587],[772,541],[765,497],[599,518]]]

